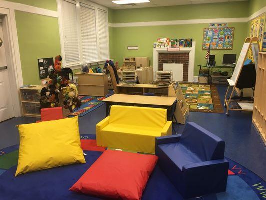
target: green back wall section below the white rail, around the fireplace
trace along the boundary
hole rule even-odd
[[[246,37],[247,23],[229,23],[228,25],[229,27],[235,27],[233,50],[211,50],[211,54],[216,55],[217,65],[222,64],[223,54],[225,53],[236,53],[238,56]],[[111,37],[114,39],[115,48],[110,49],[110,55],[115,61],[119,62],[119,66],[122,65],[124,56],[149,57],[152,65],[153,42],[157,38],[193,38],[193,41],[196,41],[194,75],[197,75],[198,67],[196,65],[206,63],[206,50],[202,50],[204,27],[208,27],[208,24],[113,28]],[[127,50],[127,46],[130,45],[139,46],[139,50]]]

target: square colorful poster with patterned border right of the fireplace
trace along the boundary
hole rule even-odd
[[[208,50],[232,50],[234,28],[204,28],[202,49]]]

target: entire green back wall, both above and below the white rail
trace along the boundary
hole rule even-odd
[[[127,23],[143,21],[187,20],[206,18],[248,17],[249,1],[193,4],[171,7],[154,7],[140,9],[112,10],[109,12],[109,22]],[[219,10],[219,11],[218,11]],[[215,20],[214,20],[215,22]],[[198,74],[197,64],[205,64],[206,50],[202,50],[203,28],[209,24],[160,25],[109,28],[110,56],[123,64],[125,56],[149,57],[153,64],[153,43],[157,38],[192,38],[196,41],[194,76]],[[216,55],[216,64],[222,64],[223,54],[236,53],[237,57],[247,36],[248,23],[228,23],[235,27],[232,50],[211,50]],[[127,46],[139,46],[139,50],[127,50]]]

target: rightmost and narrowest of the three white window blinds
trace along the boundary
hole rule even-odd
[[[98,8],[99,60],[108,59],[107,12]]]

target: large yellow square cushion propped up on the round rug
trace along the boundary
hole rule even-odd
[[[85,163],[78,117],[18,125],[20,145],[15,176],[29,171]]]

